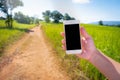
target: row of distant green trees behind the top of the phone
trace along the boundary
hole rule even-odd
[[[45,22],[47,23],[51,22],[51,19],[53,20],[54,23],[59,23],[60,20],[75,20],[75,18],[71,17],[68,13],[65,13],[63,15],[57,10],[54,10],[52,12],[50,10],[46,10],[42,14]]]

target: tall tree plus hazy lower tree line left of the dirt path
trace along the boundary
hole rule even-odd
[[[21,12],[17,12],[13,16],[12,11],[18,6],[23,6],[23,2],[21,0],[0,0],[0,11],[5,14],[5,18],[0,17],[0,19],[5,20],[7,27],[13,27],[13,20],[25,24],[39,24],[39,19],[35,17],[29,17]]]

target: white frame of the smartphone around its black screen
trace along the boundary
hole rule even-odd
[[[79,20],[65,20],[65,21],[63,21],[63,24],[64,24],[64,32],[65,32],[65,25],[80,24],[80,21]],[[80,28],[80,26],[79,26],[79,28]],[[66,39],[66,35],[65,35],[65,39]],[[65,45],[66,45],[66,43],[65,43]],[[66,53],[67,54],[80,54],[81,52],[82,52],[82,49],[67,50],[67,45],[66,45]]]

